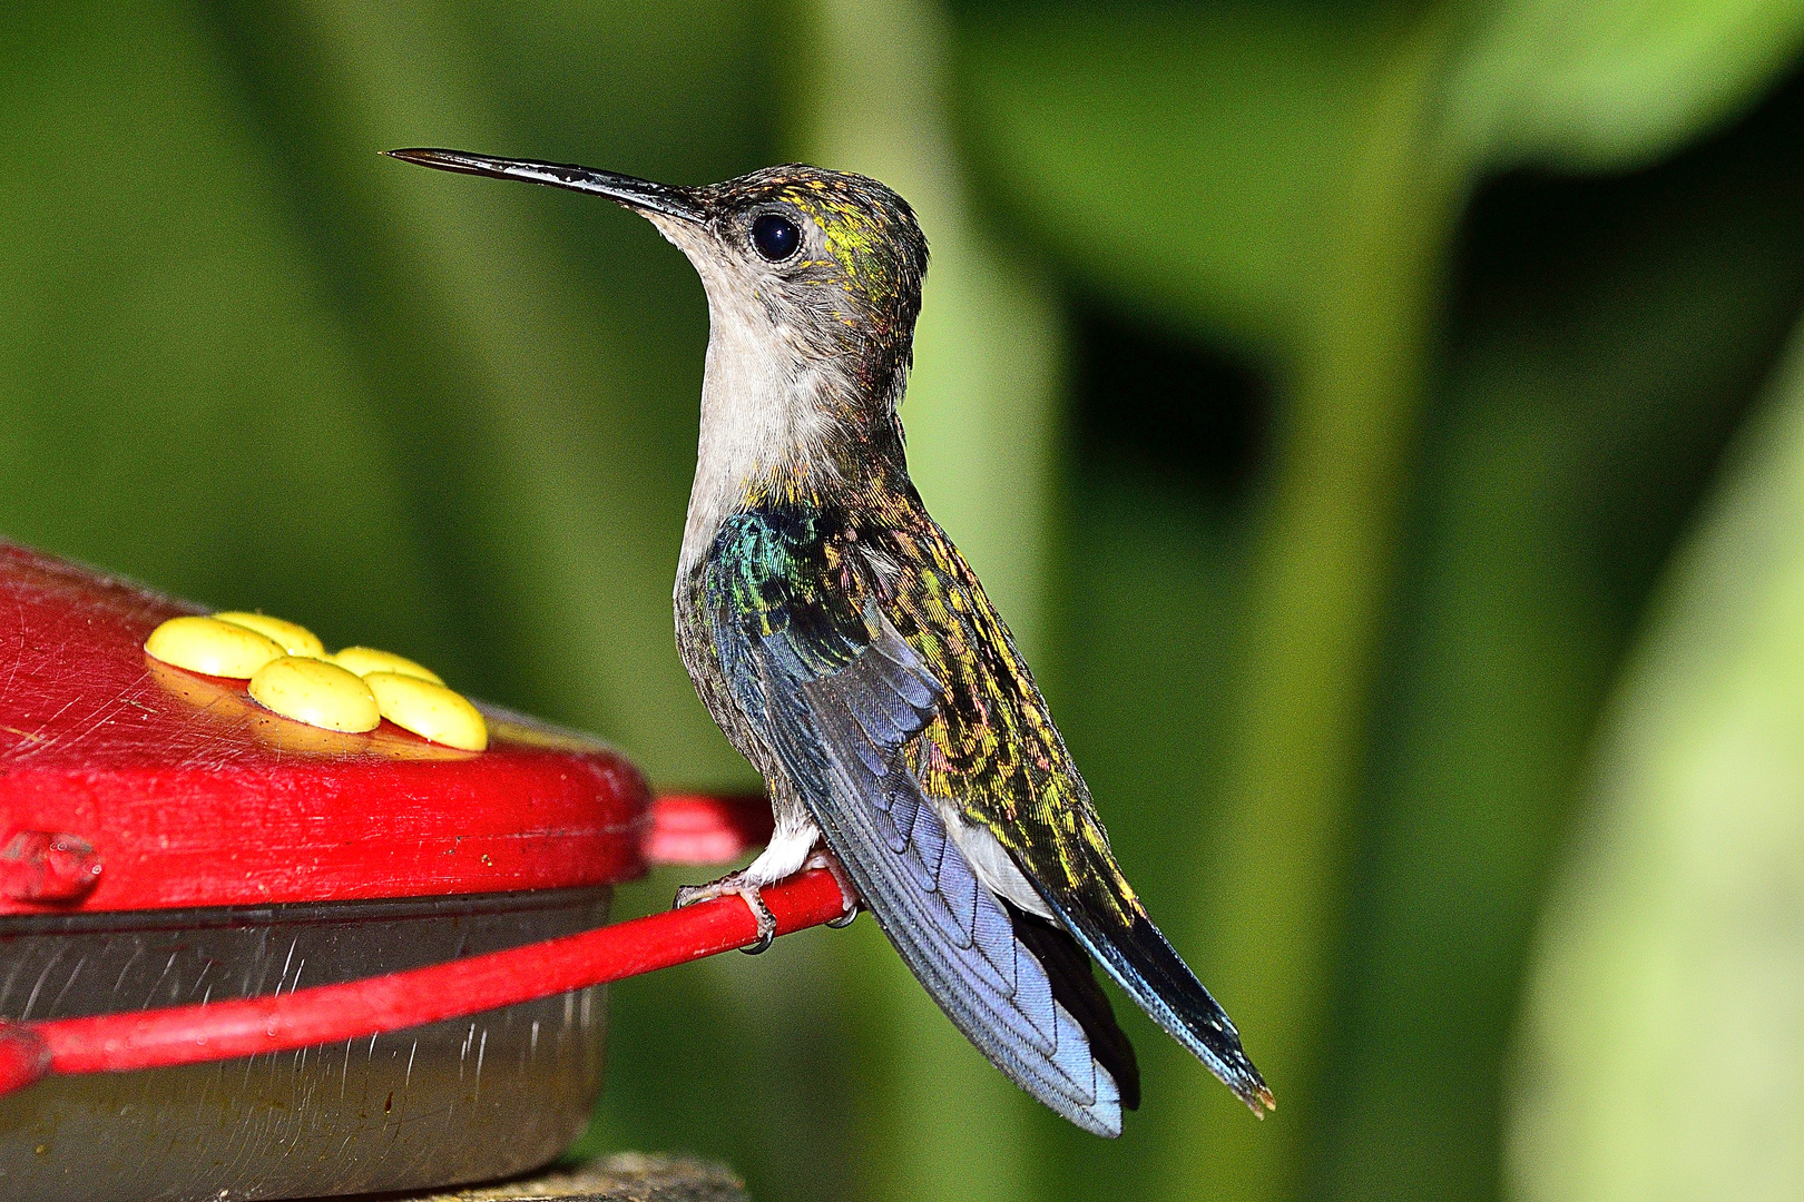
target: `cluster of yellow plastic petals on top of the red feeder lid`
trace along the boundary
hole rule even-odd
[[[152,631],[144,651],[191,672],[249,679],[258,705],[308,726],[361,733],[386,717],[446,748],[489,746],[482,712],[431,669],[375,647],[328,656],[312,631],[269,615],[170,618]]]

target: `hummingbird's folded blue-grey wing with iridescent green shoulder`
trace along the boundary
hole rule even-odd
[[[884,616],[853,542],[850,526],[819,510],[729,517],[698,596],[722,672],[947,1016],[1037,1099],[1117,1135],[1122,1090],[1109,1063],[1120,1063],[1118,1049],[1108,1040],[1093,1049],[1073,1016],[1099,1004],[1106,1013],[1108,1000],[1077,948],[1059,944],[1063,932],[1017,932],[1039,919],[1012,914],[978,879],[922,795],[906,748],[933,721],[943,687]],[[1088,991],[1072,980],[1072,957]]]

